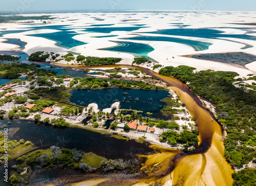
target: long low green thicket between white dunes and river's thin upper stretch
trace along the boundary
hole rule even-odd
[[[86,58],[86,61],[83,61],[85,65],[110,65],[119,63],[121,58],[100,58],[100,57],[90,57]]]

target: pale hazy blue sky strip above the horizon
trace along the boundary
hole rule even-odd
[[[255,0],[0,0],[0,11],[256,10]]]

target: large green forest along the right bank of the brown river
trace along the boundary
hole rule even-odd
[[[225,126],[225,157],[232,166],[240,167],[256,162],[256,91],[233,86],[238,76],[234,72],[200,71],[188,66],[167,66],[159,73],[174,76],[196,94],[214,103],[218,109],[217,120]],[[255,77],[255,76],[254,76]],[[242,79],[241,79],[242,80]]]

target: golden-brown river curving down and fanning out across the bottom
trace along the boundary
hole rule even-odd
[[[181,102],[186,103],[189,113],[196,118],[196,126],[199,128],[199,146],[190,154],[184,154],[178,150],[165,149],[152,145],[152,148],[160,149],[160,153],[150,156],[140,156],[146,159],[142,169],[146,172],[133,177],[112,175],[108,177],[97,176],[73,185],[232,185],[231,166],[224,157],[224,145],[221,137],[223,128],[214,119],[214,115],[208,111],[200,99],[193,94],[186,84],[173,78],[160,75],[150,69],[131,65],[102,65],[58,66],[73,68],[103,68],[103,67],[128,67],[139,68],[150,76],[159,78],[168,83],[169,88],[176,91]],[[195,101],[194,101],[195,100]],[[97,180],[97,181],[96,181]]]

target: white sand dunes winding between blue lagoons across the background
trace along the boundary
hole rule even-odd
[[[26,14],[25,14],[26,15]],[[29,14],[27,14],[29,15]],[[41,14],[38,14],[41,15]],[[53,33],[59,32],[57,29],[42,29],[31,30],[29,24],[2,24],[0,25],[0,32],[8,30],[25,30],[21,33],[6,34],[3,38],[19,38],[22,41],[27,42],[25,49],[23,50],[27,54],[31,54],[36,51],[47,51],[59,53],[60,55],[66,54],[67,52],[81,53],[84,56],[98,56],[98,57],[120,57],[123,60],[120,64],[131,64],[134,58],[134,55],[121,52],[111,52],[111,51],[102,51],[98,49],[114,47],[117,45],[112,41],[126,41],[126,42],[137,42],[148,44],[154,48],[154,51],[149,53],[148,56],[158,61],[159,64],[164,66],[172,65],[188,65],[193,66],[200,70],[213,69],[215,71],[233,71],[245,77],[248,74],[256,74],[255,62],[247,64],[246,68],[240,68],[234,65],[192,59],[187,57],[180,57],[182,55],[190,54],[206,54],[206,53],[224,53],[224,52],[246,52],[249,54],[256,55],[255,45],[256,41],[246,40],[246,39],[237,39],[237,38],[226,38],[231,41],[222,40],[222,39],[207,39],[199,37],[186,37],[186,36],[170,36],[170,35],[161,35],[154,33],[145,33],[152,32],[158,29],[177,29],[177,24],[188,25],[187,29],[198,29],[198,28],[212,28],[215,30],[222,31],[221,35],[225,34],[246,34],[247,31],[242,29],[253,28],[253,26],[244,26],[244,25],[231,25],[229,23],[244,23],[244,13],[243,12],[230,12],[223,15],[222,12],[214,13],[205,13],[201,16],[197,16],[194,12],[170,12],[167,14],[163,13],[149,13],[149,12],[136,12],[131,14],[126,13],[106,13],[102,15],[101,13],[67,13],[67,14],[50,14],[53,17],[59,17],[62,19],[53,19],[50,20],[51,24],[46,26],[65,26],[69,31],[76,32],[74,34],[74,39],[86,42],[88,44],[80,45],[73,47],[70,50],[57,47],[55,41],[41,38],[41,37],[32,37],[27,36],[26,34],[36,34],[36,33]],[[250,12],[246,14],[246,22],[254,22],[255,13]],[[102,20],[97,20],[95,17]],[[40,20],[35,20],[33,27],[41,27]],[[84,30],[85,28],[93,28],[94,25],[108,25],[103,26],[107,28],[115,27],[135,27],[135,25],[143,25],[145,28],[138,28],[134,31],[113,31],[111,33],[90,33]],[[226,28],[225,28],[226,27]],[[241,28],[241,29],[240,29]],[[26,31],[27,30],[27,31]],[[131,35],[132,34],[132,35]],[[95,36],[107,36],[107,35],[118,35],[115,37],[101,37],[95,38]],[[208,50],[205,51],[195,51],[192,47],[186,44],[180,44],[175,42],[166,42],[166,41],[139,41],[139,40],[123,40],[119,38],[125,37],[134,37],[136,35],[144,36],[162,36],[162,37],[175,37],[183,39],[191,39],[201,42],[212,43]],[[253,35],[253,33],[249,33]],[[13,50],[17,48],[16,45],[3,43],[3,38],[0,38],[0,50]],[[247,43],[253,45],[253,48],[241,49],[245,47],[245,44],[232,42],[239,41],[242,43]],[[173,58],[174,57],[174,58]],[[166,60],[168,58],[168,60]],[[66,61],[67,62],[67,61]],[[62,61],[63,63],[63,61]],[[67,62],[68,63],[68,62]]]

